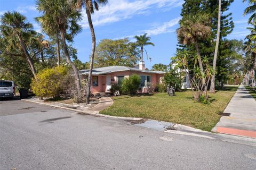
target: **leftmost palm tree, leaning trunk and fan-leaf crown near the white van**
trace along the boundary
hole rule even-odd
[[[33,31],[33,25],[29,22],[26,22],[26,16],[20,14],[19,12],[5,12],[1,16],[1,32],[9,39],[13,39],[13,37],[18,37],[19,44],[25,54],[26,60],[29,65],[29,69],[31,70],[32,74],[34,75],[35,80],[36,78],[36,69],[34,66],[34,62],[28,53],[28,49],[26,46],[26,39],[29,36],[35,35],[35,31]]]

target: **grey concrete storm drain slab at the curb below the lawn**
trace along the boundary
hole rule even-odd
[[[134,125],[141,126],[143,128],[154,129],[157,131],[166,131],[166,130],[171,129],[175,125],[175,123],[155,121],[155,120],[146,120],[143,123],[134,123]],[[172,128],[172,130],[173,130],[173,128]]]

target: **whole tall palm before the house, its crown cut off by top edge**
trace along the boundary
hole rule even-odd
[[[86,104],[90,103],[90,94],[91,94],[91,82],[92,82],[92,69],[93,69],[93,60],[96,46],[96,37],[92,24],[91,14],[94,13],[94,10],[99,11],[100,6],[104,6],[108,3],[108,0],[69,0],[70,5],[73,8],[77,8],[81,10],[83,7],[85,8],[87,20],[89,23],[91,37],[92,37],[92,49],[91,49],[91,57],[90,57],[90,70],[88,75],[87,89],[86,89]]]

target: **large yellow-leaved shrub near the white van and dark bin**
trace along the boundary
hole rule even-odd
[[[62,91],[62,80],[67,75],[64,66],[44,69],[37,73],[37,80],[32,80],[31,89],[38,97],[58,97]]]

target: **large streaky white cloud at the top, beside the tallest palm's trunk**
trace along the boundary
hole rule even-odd
[[[173,7],[182,5],[183,0],[112,0],[106,6],[100,8],[92,15],[93,25],[104,25],[125,19],[130,19],[134,15],[150,13],[150,9],[170,10]],[[80,23],[84,28],[88,28],[87,16],[82,11],[84,20]]]

